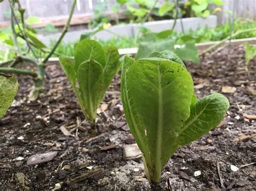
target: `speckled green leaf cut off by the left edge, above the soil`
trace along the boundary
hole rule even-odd
[[[11,106],[18,91],[16,77],[0,73],[0,118]]]

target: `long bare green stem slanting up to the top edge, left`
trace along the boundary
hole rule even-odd
[[[72,15],[73,15],[73,12],[75,10],[75,6],[76,6],[76,2],[77,0],[73,0],[73,3],[72,3],[72,6],[71,6],[71,10],[69,12],[69,18],[66,22],[66,25],[64,26],[64,29],[62,31],[62,34],[60,35],[57,43],[55,44],[55,46],[53,46],[53,48],[51,49],[51,52],[45,57],[45,59],[43,60],[43,63],[46,63],[49,58],[51,57],[51,55],[56,51],[56,48],[59,46],[60,42],[62,41],[62,39],[64,38],[66,32],[69,31],[69,26],[70,26],[70,22],[71,22],[71,18],[72,18]]]

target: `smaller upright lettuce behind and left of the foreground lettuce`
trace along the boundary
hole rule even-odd
[[[74,57],[75,63],[72,63],[60,56],[60,64],[75,91],[83,114],[94,128],[96,110],[120,68],[118,49],[113,46],[103,48],[95,40],[82,40],[75,45]]]

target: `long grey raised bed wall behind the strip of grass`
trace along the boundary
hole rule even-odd
[[[191,17],[191,18],[183,18],[182,19],[184,25],[184,31],[188,30],[196,30],[198,27],[208,26],[209,28],[215,27],[217,25],[217,17],[209,16],[207,18],[200,17]],[[169,20],[157,20],[153,22],[145,22],[143,25],[141,24],[126,24],[126,25],[117,25],[109,27],[110,32],[114,32],[119,36],[124,36],[131,38],[136,35],[138,32],[139,26],[145,26],[147,29],[150,29],[152,32],[161,32],[164,30],[170,30],[174,23],[174,19]],[[78,39],[80,39],[81,34],[89,33],[93,30],[80,30],[80,31],[70,31],[66,33],[63,38],[63,42],[65,43],[75,43]],[[181,22],[177,20],[176,27],[174,27],[174,31],[181,31]],[[97,40],[109,40],[116,37],[116,35],[110,33],[108,31],[100,31],[96,33],[92,38],[96,38]],[[46,45],[50,44],[52,39],[58,39],[61,33],[50,34],[48,36],[38,35],[38,38]]]

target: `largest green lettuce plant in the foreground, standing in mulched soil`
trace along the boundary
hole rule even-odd
[[[151,183],[160,182],[161,169],[180,146],[217,126],[229,107],[218,93],[197,100],[191,75],[170,51],[136,61],[126,56],[121,91],[126,121]]]

